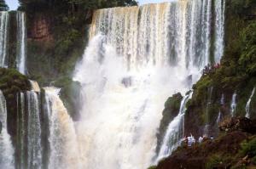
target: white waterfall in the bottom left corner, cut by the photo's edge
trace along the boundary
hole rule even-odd
[[[0,168],[14,169],[14,148],[7,132],[7,110],[6,101],[0,90],[0,122],[2,131],[0,131]],[[1,129],[0,129],[1,130]]]

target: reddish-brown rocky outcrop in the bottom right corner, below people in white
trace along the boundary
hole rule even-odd
[[[254,127],[253,121],[247,118],[232,118],[221,125],[222,132],[216,139],[206,139],[201,144],[179,147],[171,156],[159,162],[155,169],[224,169],[253,166],[256,150],[256,135],[248,130]],[[255,131],[255,130],[254,130]],[[254,132],[255,133],[255,132]]]

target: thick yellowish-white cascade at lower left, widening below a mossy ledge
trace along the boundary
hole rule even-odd
[[[79,169],[80,158],[74,124],[59,98],[60,89],[45,87],[45,100],[49,116],[48,169]]]

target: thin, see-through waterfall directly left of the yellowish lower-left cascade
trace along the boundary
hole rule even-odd
[[[27,169],[41,169],[42,146],[38,94],[26,92],[27,97]]]

